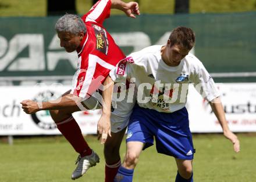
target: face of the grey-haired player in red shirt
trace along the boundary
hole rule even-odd
[[[73,52],[80,45],[79,35],[70,34],[70,32],[58,32],[61,47],[65,48],[66,52]]]

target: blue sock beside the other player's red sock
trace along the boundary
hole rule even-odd
[[[134,169],[126,169],[122,165],[118,169],[114,182],[131,182],[133,181]]]

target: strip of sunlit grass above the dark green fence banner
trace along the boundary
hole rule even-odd
[[[76,0],[77,12],[86,13],[91,0]],[[125,0],[125,2],[129,2]],[[175,0],[139,0],[141,13],[172,14]],[[190,13],[223,13],[255,11],[256,0],[190,0]],[[113,10],[112,14],[122,12]],[[46,16],[47,0],[1,0],[0,16]]]

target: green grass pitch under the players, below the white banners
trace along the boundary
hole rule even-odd
[[[194,181],[254,181],[256,134],[238,134],[241,152],[221,134],[194,134]],[[76,181],[104,181],[103,146],[95,136],[86,140],[97,151],[101,161]],[[125,142],[121,156],[125,155]],[[72,181],[76,152],[61,136],[15,139],[14,145],[0,143],[1,182],[66,182]],[[134,181],[175,181],[176,165],[172,157],[157,154],[155,147],[142,152],[134,172]]]

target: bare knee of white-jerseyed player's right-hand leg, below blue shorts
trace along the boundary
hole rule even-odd
[[[176,176],[176,182],[180,181],[180,177],[186,179],[187,181],[193,181],[193,167],[192,167],[192,160],[182,160],[182,159],[175,159],[178,174]]]

